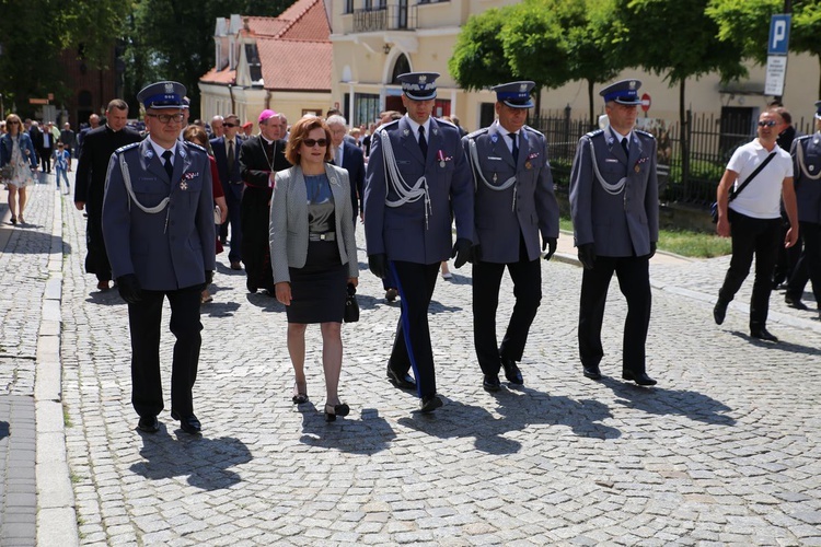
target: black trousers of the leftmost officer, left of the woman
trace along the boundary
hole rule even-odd
[[[171,408],[182,416],[194,414],[192,388],[197,380],[199,347],[199,293],[203,286],[176,291],[142,291],[143,298],[128,304],[131,329],[131,404],[139,416],[151,417],[163,409],[160,377],[160,325],[163,298],[171,304],[171,333],[176,337],[171,369]]]

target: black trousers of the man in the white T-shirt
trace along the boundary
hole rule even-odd
[[[750,274],[755,257],[755,281],[750,299],[750,329],[764,328],[770,313],[770,293],[773,290],[773,269],[780,242],[780,219],[754,219],[729,210],[732,258],[724,278],[718,298],[730,302]]]

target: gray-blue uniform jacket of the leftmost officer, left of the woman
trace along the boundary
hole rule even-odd
[[[103,199],[103,234],[114,278],[135,274],[142,289],[172,291],[205,282],[216,267],[211,164],[204,148],[177,142],[169,175],[148,139],[118,149],[108,162]],[[128,165],[136,198],[126,190],[119,158]]]

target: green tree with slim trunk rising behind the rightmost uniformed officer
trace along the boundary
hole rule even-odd
[[[747,0],[740,0],[747,1]],[[686,81],[718,72],[722,81],[747,73],[741,49],[718,38],[718,25],[707,16],[709,0],[615,0],[610,12],[612,58],[634,59],[635,65],[663,74],[679,86],[682,179],[690,177],[690,128],[686,116]],[[675,27],[670,28],[671,22]]]

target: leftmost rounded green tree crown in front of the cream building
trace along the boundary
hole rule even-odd
[[[482,90],[517,79],[508,65],[501,33],[511,7],[472,15],[456,36],[448,70],[465,90]]]

